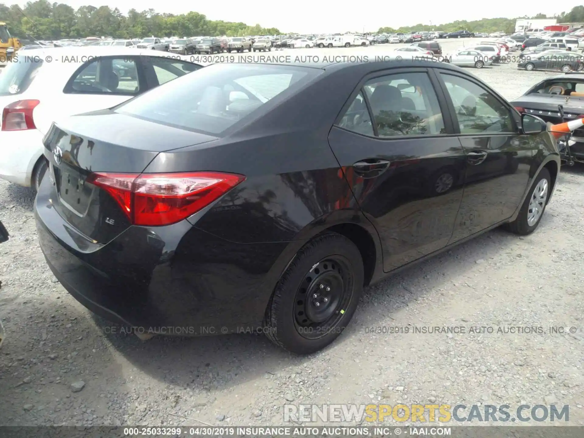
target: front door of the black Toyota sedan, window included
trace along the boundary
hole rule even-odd
[[[439,77],[467,157],[463,201],[451,239],[456,242],[515,213],[536,145],[533,135],[520,135],[511,107],[479,82],[450,71]]]

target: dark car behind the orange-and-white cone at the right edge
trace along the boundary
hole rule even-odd
[[[552,124],[584,118],[584,75],[564,74],[546,78],[512,102],[521,113],[533,114]],[[564,118],[558,106],[562,106]],[[564,140],[561,140],[564,141]],[[576,129],[569,138],[573,161],[584,163],[584,128]],[[562,144],[560,144],[562,147]],[[560,158],[566,160],[565,151]]]

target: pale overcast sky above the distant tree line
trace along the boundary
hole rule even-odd
[[[50,0],[51,2],[53,0]],[[11,0],[0,0],[12,4]],[[26,1],[18,1],[24,6]],[[126,14],[135,8],[137,11],[155,9],[160,13],[180,14],[196,11],[211,20],[244,22],[253,26],[277,27],[282,32],[346,32],[377,30],[379,27],[413,26],[418,23],[433,25],[449,23],[454,20],[479,20],[481,18],[513,18],[537,13],[568,12],[574,6],[581,5],[582,0],[509,1],[491,0],[488,2],[454,2],[442,0],[412,1],[290,1],[290,2],[242,2],[241,0],[220,0],[218,2],[189,2],[178,0],[161,2],[160,0],[66,0],[61,3],[77,9],[79,6],[107,5],[119,8]],[[260,7],[260,5],[263,5]],[[274,6],[277,5],[277,6]],[[245,6],[245,7],[244,7]],[[436,29],[439,30],[439,29]]]

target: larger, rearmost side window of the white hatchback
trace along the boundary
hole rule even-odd
[[[75,72],[65,93],[137,95],[136,61],[124,57],[98,58]]]

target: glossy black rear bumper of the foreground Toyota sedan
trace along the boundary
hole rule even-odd
[[[230,333],[261,324],[283,243],[236,244],[182,221],[130,227],[107,244],[51,208],[43,179],[34,203],[41,250],[63,287],[89,310],[157,333]]]

